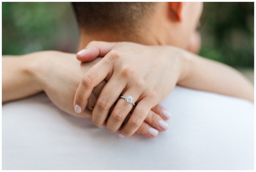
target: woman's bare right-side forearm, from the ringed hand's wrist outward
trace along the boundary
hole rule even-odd
[[[185,74],[178,85],[254,102],[252,83],[237,70],[189,52],[185,52],[183,56],[186,59],[182,69]]]

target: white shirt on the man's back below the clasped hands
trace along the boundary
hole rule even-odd
[[[175,87],[153,139],[120,138],[58,109],[45,93],[2,106],[3,170],[254,169],[253,103]]]

